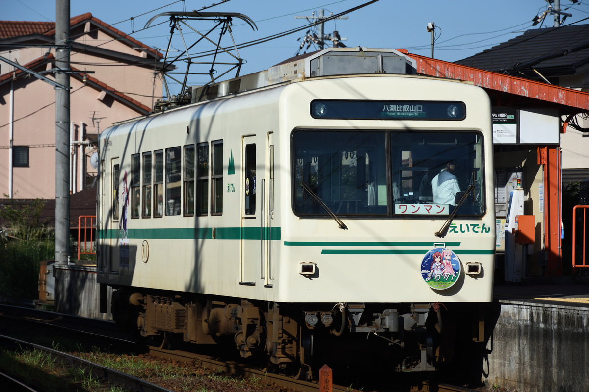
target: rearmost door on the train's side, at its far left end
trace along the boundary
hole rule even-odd
[[[119,267],[119,242],[120,242],[120,230],[119,225],[122,223],[124,219],[121,216],[121,203],[123,201],[120,199],[121,197],[121,160],[119,158],[111,159],[111,192],[110,192],[110,212],[111,216],[109,219],[110,227],[108,230],[108,241],[110,247],[110,254],[109,254],[109,261],[110,261],[110,272],[118,272]],[[124,192],[126,197],[126,192]],[[107,239],[105,239],[106,241]]]

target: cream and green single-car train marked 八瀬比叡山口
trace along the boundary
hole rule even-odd
[[[316,379],[368,357],[434,371],[484,335],[494,166],[472,83],[327,48],[158,102],[99,152],[97,281],[156,345]],[[443,173],[459,189],[440,199]]]

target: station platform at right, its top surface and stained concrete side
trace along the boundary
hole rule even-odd
[[[587,391],[589,281],[532,277],[494,286],[482,382],[508,391]]]

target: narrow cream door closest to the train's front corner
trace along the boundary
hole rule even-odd
[[[264,194],[263,200],[263,219],[264,222],[262,225],[264,226],[264,236],[263,236],[263,244],[264,244],[264,261],[263,266],[264,270],[262,273],[262,279],[264,280],[264,284],[266,287],[272,287],[272,283],[274,281],[273,276],[273,260],[274,260],[274,252],[273,252],[273,245],[272,240],[276,243],[276,239],[273,237],[276,236],[273,233],[273,229],[275,226],[276,220],[274,219],[274,133],[268,133],[268,150],[267,150],[267,165],[266,165],[266,179],[262,180],[262,192]],[[276,232],[276,229],[274,229]]]

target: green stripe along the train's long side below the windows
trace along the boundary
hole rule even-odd
[[[117,238],[118,230],[100,230],[101,239]],[[272,234],[272,235],[270,235]],[[272,233],[267,227],[263,231],[264,240],[280,240],[280,227],[272,227]],[[262,230],[260,227],[216,227],[216,240],[260,240]],[[213,229],[211,227],[191,227],[190,229],[128,229],[127,238],[130,239],[160,239],[160,240],[211,240]]]

